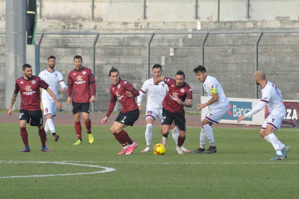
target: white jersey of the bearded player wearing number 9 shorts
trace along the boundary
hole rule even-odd
[[[47,69],[39,73],[39,77],[42,78],[48,85],[49,88],[53,91],[56,98],[58,99],[58,84],[60,84],[61,88],[66,88],[65,82],[63,80],[62,74],[55,70],[54,72],[50,72]],[[53,100],[53,98],[49,95],[49,93],[42,89],[42,99]]]

